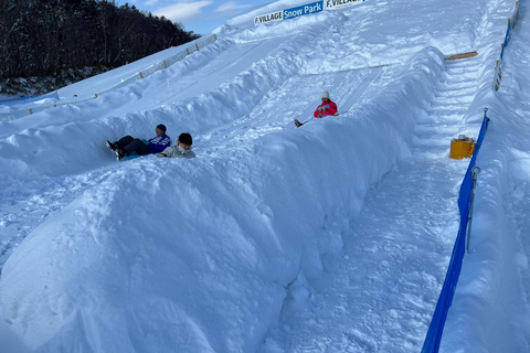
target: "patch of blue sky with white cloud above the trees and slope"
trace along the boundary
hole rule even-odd
[[[200,34],[208,34],[227,19],[248,10],[255,6],[272,2],[273,0],[119,0],[117,4],[126,2],[138,10],[165,15],[173,22],[183,24],[184,30]]]

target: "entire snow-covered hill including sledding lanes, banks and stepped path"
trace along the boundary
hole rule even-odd
[[[495,93],[511,1],[369,0],[253,25],[299,3],[235,17],[117,92],[0,122],[1,350],[418,352],[468,163],[449,141],[476,137],[485,107],[442,350],[530,350],[526,4]],[[322,90],[340,116],[294,128]],[[198,158],[116,162],[105,148],[158,124],[173,142],[189,131]]]

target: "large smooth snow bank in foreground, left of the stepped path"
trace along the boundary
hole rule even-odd
[[[222,156],[120,164],[6,263],[12,330],[41,352],[256,350],[285,287],[319,271],[328,248],[315,229],[338,210],[359,212],[407,154],[442,69],[427,49],[356,114]]]

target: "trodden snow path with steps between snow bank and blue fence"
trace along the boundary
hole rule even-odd
[[[325,231],[342,236],[342,258],[324,258],[322,278],[295,281],[267,343],[306,353],[421,349],[457,235],[468,164],[447,158],[449,142],[475,98],[479,68],[480,56],[446,62],[411,158],[367,195],[349,226]]]

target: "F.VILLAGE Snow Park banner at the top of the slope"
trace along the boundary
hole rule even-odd
[[[287,10],[280,10],[257,15],[254,18],[254,24],[258,25],[261,23],[295,19],[300,15],[317,13],[322,10],[342,9],[352,4],[362,3],[365,0],[321,0]]]

